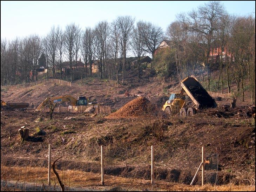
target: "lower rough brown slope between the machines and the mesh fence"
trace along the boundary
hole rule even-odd
[[[139,166],[144,160],[149,165],[150,146],[154,145],[155,156],[160,162],[172,162],[171,167],[189,174],[190,169],[197,167],[200,162],[201,147],[206,146],[207,154],[219,155],[218,183],[229,182],[232,162],[233,183],[250,184],[255,178],[255,145],[251,143],[252,137],[255,137],[255,127],[250,125],[250,118],[224,118],[222,113],[218,118],[220,112],[212,110],[202,111],[190,118],[151,116],[106,119],[76,115],[73,120],[64,120],[73,116],[65,113],[54,114],[54,121],[49,121],[48,114],[44,114],[41,121],[35,123],[39,113],[1,112],[2,166],[21,166],[31,161],[33,166],[46,167],[49,143],[53,146],[53,158],[64,157],[62,162],[66,169],[86,171],[89,166],[91,171],[98,172],[100,145],[105,146],[106,151],[119,154],[115,161],[122,157],[120,163],[106,163],[106,169],[122,166],[123,160],[130,162],[128,165],[131,167]],[[22,125],[31,130],[28,142],[20,142],[18,129]],[[35,135],[36,127],[45,131],[46,135]],[[133,159],[137,159],[136,164],[131,163]],[[142,174],[146,179],[150,178],[146,168],[142,169]]]

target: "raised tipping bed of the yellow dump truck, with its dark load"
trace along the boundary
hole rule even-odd
[[[197,108],[217,107],[214,99],[208,94],[203,86],[193,77],[187,77],[181,81],[181,87],[188,94]]]

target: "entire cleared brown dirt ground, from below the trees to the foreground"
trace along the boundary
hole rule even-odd
[[[49,119],[49,113],[1,109],[1,184],[6,178],[12,182],[23,178],[26,167],[33,175],[27,182],[34,183],[38,173],[36,170],[39,169],[45,175],[40,176],[40,180],[46,183],[48,145],[51,144],[52,159],[63,157],[57,167],[61,172],[73,171],[74,176],[89,177],[85,177],[87,180],[76,178],[76,184],[72,180],[72,187],[88,187],[83,190],[94,190],[94,187],[96,190],[113,190],[114,187],[126,190],[133,178],[136,182],[130,189],[141,182],[134,190],[144,191],[227,191],[230,183],[231,190],[255,190],[255,125],[246,114],[250,105],[249,94],[246,94],[245,102],[238,98],[235,109],[225,106],[230,105],[229,99],[222,99],[216,101],[216,109],[201,110],[192,117],[171,117],[162,113],[161,107],[170,92],[180,89],[176,81],[149,82],[144,76],[141,82],[137,82],[132,74],[128,75],[130,77],[123,85],[87,78],[83,80],[83,86],[79,86],[77,81],[72,87],[45,84],[1,90],[1,99],[5,102],[29,102],[35,106],[48,96],[85,95],[90,101],[110,105],[113,111],[121,111],[122,107],[127,107],[128,102],[134,100],[133,94],[142,95],[156,105],[147,116],[140,115],[140,111],[126,118],[114,115],[107,118],[99,114],[90,117],[67,112],[54,113],[53,120]],[[126,114],[129,114],[129,106]],[[138,109],[141,110],[140,107]],[[66,117],[73,118],[65,120]],[[21,126],[30,129],[25,142],[21,142],[18,133]],[[36,134],[35,128],[45,134]],[[100,186],[101,145],[107,158],[106,188]],[[168,174],[172,170],[180,170],[179,184],[167,180],[157,180],[156,188],[149,184],[151,145],[155,146],[158,169]],[[195,186],[182,184],[184,178],[197,169],[202,146],[205,146],[207,154],[218,154],[217,188],[213,185],[200,187],[200,180],[195,182]],[[119,174],[123,169],[130,171]],[[136,175],[137,170],[140,170],[140,175]],[[21,177],[15,177],[16,173]],[[12,177],[8,178],[10,174]]]

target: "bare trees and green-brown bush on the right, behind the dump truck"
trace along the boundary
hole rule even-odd
[[[170,48],[153,61],[156,72],[179,79],[199,72],[202,81],[206,74],[209,91],[215,68],[217,89],[223,93],[227,85],[230,92],[231,82],[236,82],[236,97],[241,94],[244,101],[247,80],[255,103],[255,16],[230,15],[219,1],[210,1],[176,18],[166,31]]]

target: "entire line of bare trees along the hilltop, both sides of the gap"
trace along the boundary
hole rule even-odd
[[[127,51],[138,57],[136,67],[140,79],[141,57],[151,55],[157,75],[182,79],[201,74],[212,80],[215,48],[217,89],[223,92],[236,82],[236,96],[244,100],[245,82],[249,82],[252,103],[255,103],[255,16],[234,16],[227,13],[219,1],[209,1],[196,10],[177,15],[166,32],[151,22],[137,21],[132,16],[119,16],[112,22],[100,21],[93,28],[82,29],[75,23],[65,29],[53,26],[44,37],[29,35],[13,41],[1,39],[1,85],[36,81],[36,69],[44,65],[53,78],[63,78],[62,63],[69,62],[69,80],[92,77],[96,64],[100,78],[116,79],[123,83],[127,68]],[[163,39],[169,48],[157,50]],[[78,73],[82,57],[85,68]],[[47,70],[47,78],[49,76]],[[66,77],[66,74],[65,74]],[[248,84],[247,84],[248,85]]]

